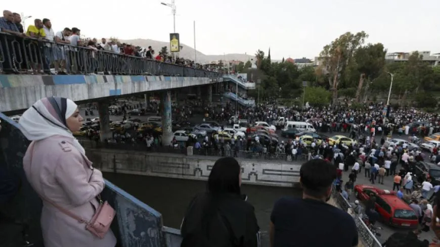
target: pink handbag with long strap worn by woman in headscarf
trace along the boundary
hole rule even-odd
[[[31,152],[31,156],[30,156],[30,164],[31,165],[32,165],[33,145],[34,145],[34,143],[32,142],[31,143],[32,152]],[[92,175],[93,175],[93,168],[92,168]],[[92,178],[92,175],[90,176],[91,178]],[[39,193],[37,192],[37,194],[39,194]],[[104,238],[105,234],[110,229],[110,225],[113,221],[113,218],[116,215],[116,212],[112,208],[112,206],[110,206],[110,204],[108,204],[107,201],[103,202],[101,200],[100,195],[97,196],[99,206],[95,210],[95,214],[92,216],[92,219],[90,221],[87,221],[87,220],[79,217],[78,215],[70,212],[69,210],[59,206],[55,202],[47,199],[46,197],[43,197],[42,195],[39,195],[39,196],[42,200],[45,200],[46,202],[52,204],[54,207],[56,207],[58,210],[60,210],[65,215],[77,220],[79,223],[85,223],[85,229],[90,231],[93,235],[95,235],[101,239]],[[92,204],[92,206],[93,206],[93,204]]]

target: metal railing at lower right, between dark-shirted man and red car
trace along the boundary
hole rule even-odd
[[[351,214],[349,210],[351,210],[350,203],[342,196],[341,193],[336,191],[336,188],[333,184],[333,190],[332,190],[333,198],[336,200],[337,205],[344,210],[345,212],[349,213],[351,216],[353,216],[356,226],[358,228],[358,234],[359,237],[364,244],[365,247],[382,247],[382,244],[380,241],[374,236],[374,234],[368,229],[368,226],[364,223],[364,221],[356,214]]]

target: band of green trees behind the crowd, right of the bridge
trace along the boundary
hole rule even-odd
[[[240,63],[236,70],[248,73],[248,78],[255,82],[261,81],[257,90],[248,93],[255,98],[259,94],[260,101],[277,98],[302,101],[303,81],[309,85],[306,94],[307,90],[312,92],[306,96],[310,97],[306,101],[311,105],[328,103],[328,95],[332,96],[333,103],[338,103],[339,97],[356,99],[357,103],[367,99],[386,101],[392,74],[390,103],[404,105],[408,101],[423,107],[436,107],[435,98],[440,95],[435,94],[440,92],[440,67],[432,67],[418,52],[407,55],[407,61],[402,63],[387,60],[383,44],[364,44],[367,38],[364,31],[340,35],[324,46],[318,67],[298,69],[286,63],[284,58],[281,63],[272,63],[270,50],[265,57],[265,52],[258,49],[254,59]],[[256,70],[249,69],[252,63]]]

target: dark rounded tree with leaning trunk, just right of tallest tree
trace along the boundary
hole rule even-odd
[[[356,69],[359,75],[359,85],[356,91],[356,102],[359,102],[364,81],[376,79],[385,65],[386,49],[383,44],[368,44],[355,51]]]

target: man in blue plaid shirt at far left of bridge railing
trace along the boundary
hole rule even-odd
[[[3,11],[3,17],[0,17],[0,31],[4,33],[9,33],[16,36],[26,36],[24,33],[20,33],[18,30],[17,25],[14,23],[14,15],[11,11],[5,10]],[[4,37],[4,39],[0,40],[0,44],[2,45],[3,50],[3,71],[5,74],[18,74],[18,71],[16,69],[13,69],[12,62],[13,57],[10,53],[8,53],[8,47],[12,46],[11,39],[8,39],[7,37]]]

